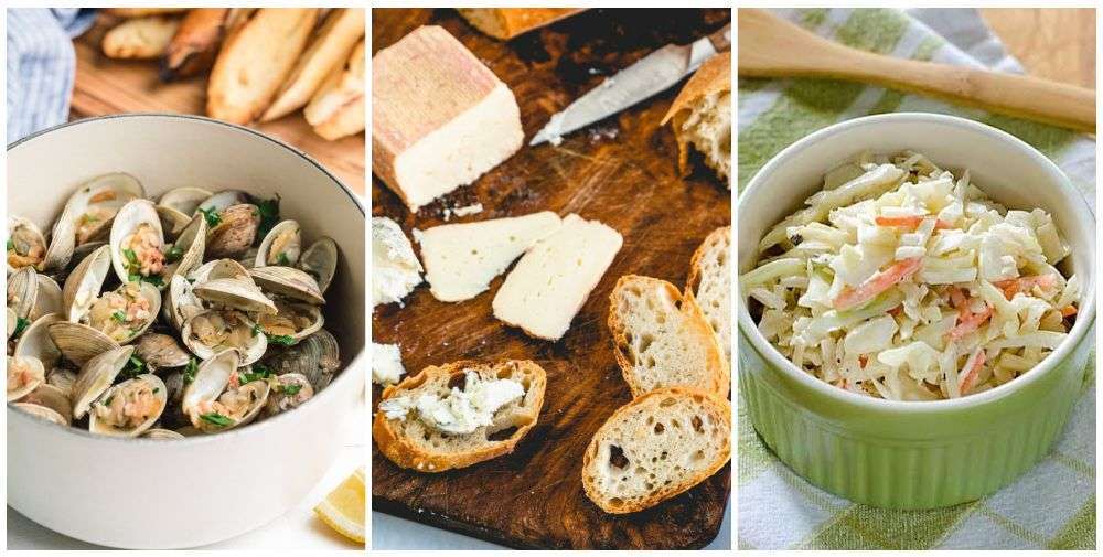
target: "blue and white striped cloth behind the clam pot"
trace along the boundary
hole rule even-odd
[[[68,119],[73,38],[96,19],[79,8],[8,9],[8,142]]]

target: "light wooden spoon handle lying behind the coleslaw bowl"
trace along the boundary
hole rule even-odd
[[[919,93],[993,113],[1095,133],[1095,92],[1037,77],[871,54],[823,39],[764,10],[739,10],[738,73],[823,77]]]

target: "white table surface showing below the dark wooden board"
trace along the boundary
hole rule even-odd
[[[462,534],[427,526],[385,513],[372,513],[372,549],[504,549]],[[705,549],[731,548],[731,499],[724,510],[720,533]]]

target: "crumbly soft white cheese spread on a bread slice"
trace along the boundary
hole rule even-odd
[[[452,387],[443,398],[437,395],[390,398],[379,403],[379,411],[387,419],[397,420],[405,420],[414,411],[432,429],[467,435],[489,426],[499,409],[525,396],[525,387],[513,379],[484,381],[475,372],[465,373],[463,389]]]

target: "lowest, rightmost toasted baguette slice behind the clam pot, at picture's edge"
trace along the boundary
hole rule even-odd
[[[340,68],[339,68],[340,69]],[[314,133],[340,139],[364,131],[364,40],[352,50],[343,69],[335,72],[302,110]]]

